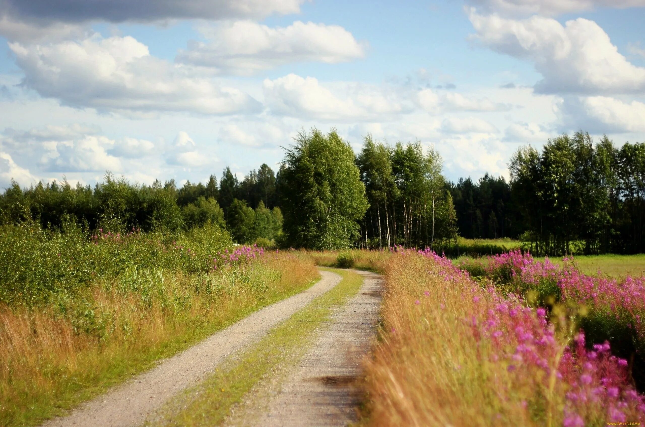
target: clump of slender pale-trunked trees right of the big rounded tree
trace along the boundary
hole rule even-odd
[[[356,162],[370,202],[361,246],[436,248],[457,238],[457,214],[437,151],[419,142],[377,144],[368,135]]]

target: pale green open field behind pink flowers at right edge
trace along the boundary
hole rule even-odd
[[[615,278],[645,276],[645,254],[581,255],[575,256],[574,260],[584,274],[594,275],[600,271]]]

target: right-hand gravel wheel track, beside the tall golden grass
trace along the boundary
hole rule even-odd
[[[239,408],[229,426],[346,426],[357,421],[360,396],[355,380],[375,336],[382,292],[381,276],[358,273],[365,278],[359,293],[339,308],[280,389],[256,390],[257,395],[273,397],[268,403],[251,400],[255,407]]]

